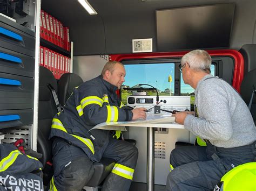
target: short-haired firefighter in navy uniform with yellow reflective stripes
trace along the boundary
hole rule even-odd
[[[109,131],[93,129],[102,122],[146,118],[145,108],[122,109],[116,90],[124,82],[122,63],[109,61],[102,75],[73,90],[62,112],[52,121],[54,175],[50,190],[82,190],[94,172],[93,162],[102,157],[116,160],[102,190],[129,190],[138,150],[132,144],[114,139]]]

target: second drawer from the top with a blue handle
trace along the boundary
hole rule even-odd
[[[35,76],[35,59],[0,47],[0,71],[22,76]]]

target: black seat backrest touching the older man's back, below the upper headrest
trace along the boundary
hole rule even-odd
[[[241,96],[245,103],[248,105],[251,101],[252,93],[256,90],[256,69],[246,73],[241,83]],[[256,122],[256,93],[253,95],[251,114]],[[255,123],[256,124],[256,123]]]

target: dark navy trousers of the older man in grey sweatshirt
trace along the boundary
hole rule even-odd
[[[252,162],[255,143],[223,148],[207,146],[182,146],[170,155],[172,171],[167,176],[167,190],[213,190],[221,177],[235,166]]]

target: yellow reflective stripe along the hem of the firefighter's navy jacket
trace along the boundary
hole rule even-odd
[[[52,119],[51,128],[58,129],[58,130],[64,131],[65,133],[68,133],[68,131],[66,131],[66,129],[64,128],[64,125],[62,124],[62,122],[60,122],[59,119],[57,119],[57,118]],[[89,149],[91,150],[91,152],[93,154],[95,153],[94,146],[93,146],[90,139],[86,139],[86,138],[83,138],[83,137],[80,137],[80,136],[77,136],[77,135],[73,135],[73,134],[70,134],[70,133],[68,133],[68,134],[73,136],[73,137],[76,137],[78,140],[80,140],[80,142],[84,143],[87,147],[89,147]]]

